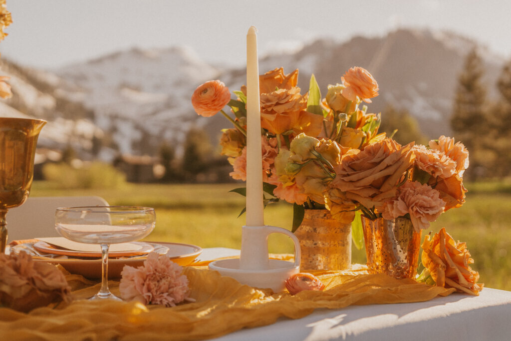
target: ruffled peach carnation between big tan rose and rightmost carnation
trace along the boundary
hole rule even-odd
[[[456,174],[456,162],[444,152],[428,149],[423,145],[412,148],[415,166],[433,177],[448,178]]]

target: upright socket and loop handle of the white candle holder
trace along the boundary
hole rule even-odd
[[[272,233],[281,233],[291,238],[294,243],[294,266],[300,265],[300,242],[292,232],[271,225],[243,226],[240,269],[267,270],[270,268],[268,258],[268,236]]]

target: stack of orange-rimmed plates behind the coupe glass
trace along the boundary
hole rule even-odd
[[[11,252],[27,252],[38,262],[60,264],[72,274],[88,279],[101,278],[101,249],[99,245],[69,241],[62,237],[37,238],[11,246]],[[191,264],[202,249],[199,246],[165,242],[131,242],[111,244],[108,253],[108,278],[121,277],[125,265],[137,267],[147,255],[156,252],[167,255],[175,263]]]

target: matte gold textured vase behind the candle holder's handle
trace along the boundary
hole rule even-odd
[[[328,210],[305,210],[294,232],[300,241],[301,271],[351,267],[351,224],[339,223]]]

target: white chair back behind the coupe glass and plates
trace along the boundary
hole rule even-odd
[[[108,206],[99,196],[29,197],[20,207],[7,212],[8,243],[36,237],[59,237],[55,211],[59,207]]]

